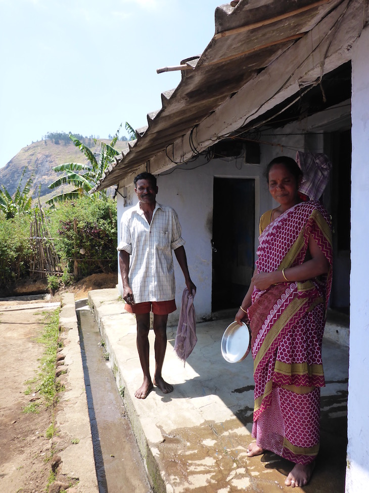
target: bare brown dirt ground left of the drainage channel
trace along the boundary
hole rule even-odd
[[[19,288],[18,295],[35,292],[35,283]],[[48,301],[55,302],[64,291],[75,299],[86,298],[91,289],[112,288],[117,274],[95,274],[74,286],[60,290]],[[46,491],[51,472],[57,468],[57,453],[63,449],[63,437],[48,439],[46,432],[52,424],[52,409],[40,406],[37,414],[25,413],[23,408],[39,400],[37,393],[27,394],[27,381],[39,371],[44,347],[37,342],[42,327],[45,300],[32,301],[34,308],[25,309],[30,301],[0,301],[0,491],[3,493],[42,493]],[[37,307],[42,303],[42,308]],[[57,412],[57,408],[56,408]],[[59,478],[58,478],[59,479]],[[48,490],[63,489],[73,493],[73,482],[65,478]]]

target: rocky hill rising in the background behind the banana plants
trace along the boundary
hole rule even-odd
[[[94,140],[90,138],[83,138],[81,140],[93,152],[99,153],[101,148],[99,142],[95,144]],[[106,143],[111,142],[110,139],[100,140]],[[127,146],[128,142],[122,140],[118,140],[115,144],[115,148],[118,150],[122,150]],[[22,171],[27,166],[22,184],[24,185],[33,173],[33,198],[37,198],[38,187],[41,185],[40,197],[42,198],[41,202],[44,203],[48,199],[68,191],[66,186],[64,189],[63,186],[54,190],[48,188],[50,183],[63,176],[62,172],[57,173],[53,171],[53,167],[64,163],[87,164],[88,161],[71,140],[60,141],[60,143],[55,143],[51,139],[34,142],[23,147],[4,168],[0,168],[0,185],[3,185],[10,195],[13,195],[17,189]],[[71,189],[70,185],[69,189]]]

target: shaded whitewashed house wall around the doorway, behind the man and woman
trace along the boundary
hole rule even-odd
[[[329,124],[329,118],[335,119],[337,115],[330,117],[319,116],[319,125]],[[297,150],[305,149],[304,133],[316,125],[315,118],[298,124],[286,125],[278,131],[268,131],[262,135],[260,164],[251,165],[244,162],[244,158],[230,161],[229,158],[213,159],[204,164],[202,157],[172,172],[157,177],[159,193],[157,201],[164,205],[170,205],[177,213],[182,226],[182,236],[186,241],[184,248],[188,258],[189,270],[192,280],[197,286],[195,298],[196,314],[199,321],[208,318],[211,314],[211,290],[212,290],[212,209],[213,209],[213,178],[254,178],[255,179],[255,252],[258,246],[259,218],[260,215],[272,207],[278,206],[268,192],[266,180],[263,176],[266,165],[276,156],[290,156],[296,158]],[[322,152],[322,141],[317,137],[310,137],[309,150]],[[196,167],[196,168],[195,168]],[[194,169],[189,169],[194,168]],[[124,211],[124,202],[128,207],[137,203],[133,184],[131,187],[122,188],[120,194],[126,197],[125,201],[118,194],[118,218]],[[226,207],[224,198],[224,207]],[[230,211],[231,213],[232,211]],[[118,220],[119,222],[119,220]],[[118,224],[119,226],[119,224]],[[118,227],[119,230],[119,227]],[[119,241],[119,231],[118,231]],[[180,307],[181,295],[184,289],[182,272],[174,259],[176,278],[176,304]],[[122,293],[121,278],[118,275],[119,290]],[[169,316],[169,324],[175,324],[178,320],[178,310]]]

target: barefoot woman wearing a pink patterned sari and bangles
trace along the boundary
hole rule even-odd
[[[288,157],[266,170],[279,207],[260,218],[258,259],[236,314],[249,321],[255,406],[248,456],[270,450],[295,464],[285,484],[304,486],[319,449],[321,342],[332,280],[332,238],[326,210],[302,202],[302,173]]]

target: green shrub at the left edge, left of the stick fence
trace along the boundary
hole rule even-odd
[[[29,273],[31,219],[29,214],[7,219],[0,213],[0,286],[9,286]]]

